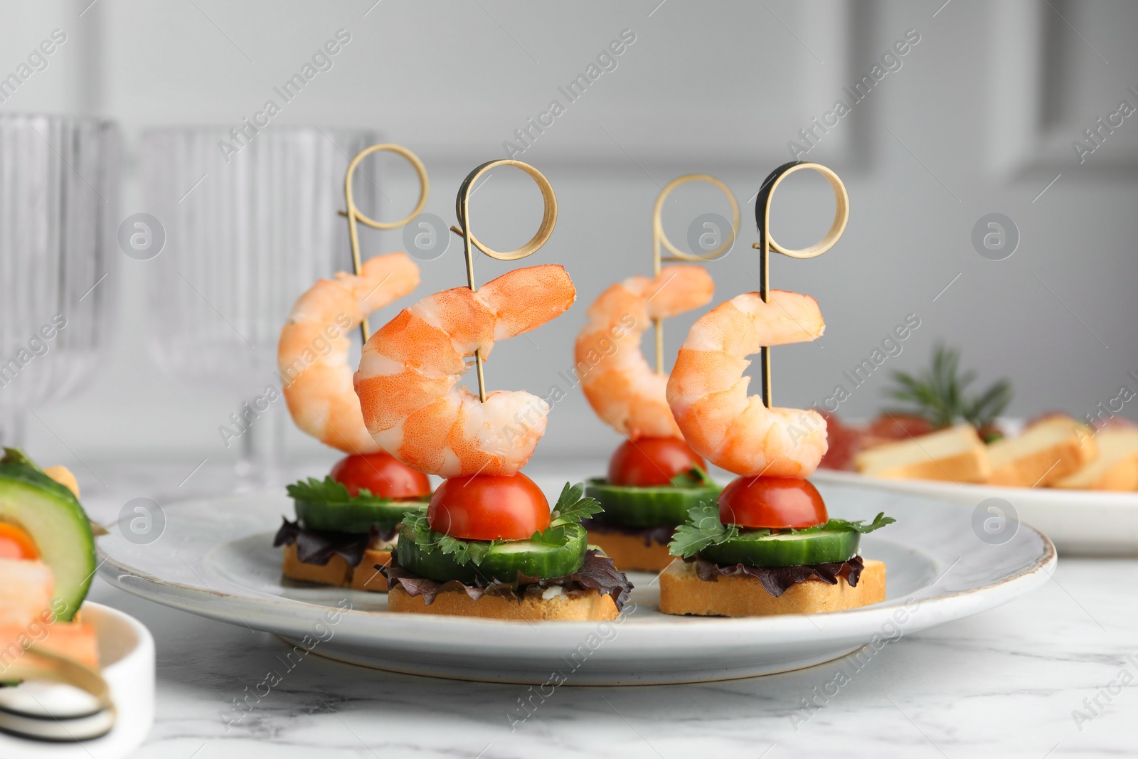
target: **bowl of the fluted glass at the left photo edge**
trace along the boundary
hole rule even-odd
[[[0,114],[0,442],[90,380],[107,340],[117,127]]]

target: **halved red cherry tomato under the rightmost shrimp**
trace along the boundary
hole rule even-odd
[[[828,519],[818,489],[797,477],[736,477],[719,494],[724,525],[801,529]]]

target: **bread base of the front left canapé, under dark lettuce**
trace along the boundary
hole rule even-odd
[[[550,588],[553,589],[553,588]],[[620,616],[610,595],[596,591],[562,592],[551,597],[527,593],[521,601],[487,593],[475,601],[465,591],[444,591],[435,600],[423,603],[421,595],[412,596],[396,585],[387,594],[387,610],[418,614],[448,617],[481,617],[484,619],[514,619],[526,621],[604,621]]]

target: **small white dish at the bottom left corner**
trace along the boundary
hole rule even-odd
[[[117,609],[88,601],[83,620],[94,626],[99,640],[102,678],[115,704],[114,727],[102,737],[81,743],[42,742],[0,733],[5,759],[118,759],[142,745],[154,724],[154,638],[139,620]],[[67,685],[24,683],[3,688],[0,706],[39,713],[38,719],[64,733],[68,716],[76,713],[86,694]],[[58,717],[59,719],[56,719]],[[61,721],[60,721],[61,720]],[[75,727],[73,725],[73,727]]]

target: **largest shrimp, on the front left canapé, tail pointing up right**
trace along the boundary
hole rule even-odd
[[[355,388],[376,443],[440,477],[516,475],[545,435],[549,404],[521,390],[478,396],[459,386],[467,358],[569,308],[577,292],[561,266],[516,269],[477,292],[427,296],[384,324],[363,348]]]

